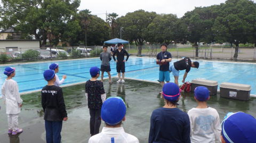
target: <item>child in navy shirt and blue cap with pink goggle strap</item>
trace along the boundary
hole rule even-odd
[[[189,142],[190,124],[188,114],[177,108],[180,88],[169,82],[163,86],[163,107],[153,111],[150,119],[148,142]]]

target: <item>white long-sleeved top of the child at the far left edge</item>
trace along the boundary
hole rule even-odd
[[[17,82],[12,79],[5,79],[2,86],[2,95],[6,105],[6,114],[20,113],[19,104],[23,101],[20,98]]]

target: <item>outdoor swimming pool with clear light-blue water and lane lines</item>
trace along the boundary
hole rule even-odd
[[[128,78],[135,78],[141,80],[157,81],[158,79],[158,65],[155,63],[155,58],[150,57],[130,57],[125,63],[126,75]],[[175,62],[177,60],[173,60]],[[100,68],[101,61],[99,58],[87,58],[83,60],[65,60],[55,61],[59,64],[60,72],[58,73],[61,78],[66,74],[67,79],[63,85],[70,85],[73,83],[85,82],[91,78],[89,69],[92,66]],[[10,66],[16,69],[16,76],[14,80],[18,82],[20,92],[34,91],[42,89],[46,85],[43,78],[44,70],[48,69],[49,65],[53,63],[38,62],[26,64],[12,64]],[[191,68],[188,73],[186,81],[192,79],[202,78],[207,80],[216,80],[218,83],[234,82],[242,83],[252,86],[251,94],[256,94],[256,64],[255,63],[242,63],[242,62],[219,62],[219,61],[199,61],[200,66],[198,69]],[[116,76],[116,64],[110,61],[111,75]],[[6,78],[2,72],[6,66],[0,66],[0,87]],[[180,72],[179,83],[183,77]],[[107,77],[107,73],[105,74]],[[171,74],[171,81],[174,78]],[[1,95],[0,95],[1,96]]]

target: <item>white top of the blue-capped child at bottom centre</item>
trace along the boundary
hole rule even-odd
[[[139,140],[131,134],[124,132],[123,127],[103,127],[102,131],[92,136],[88,143],[139,143]]]

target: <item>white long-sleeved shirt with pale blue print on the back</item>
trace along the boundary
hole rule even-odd
[[[221,142],[220,116],[214,108],[192,108],[188,111],[190,140],[194,142]]]

